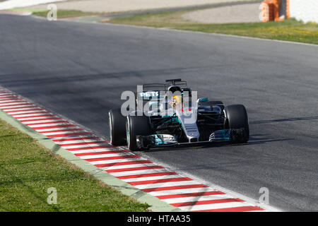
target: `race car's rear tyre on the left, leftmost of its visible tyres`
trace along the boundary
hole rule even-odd
[[[110,143],[112,145],[126,145],[126,117],[120,108],[108,112],[108,127],[110,129]]]

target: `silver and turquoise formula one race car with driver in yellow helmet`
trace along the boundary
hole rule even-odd
[[[196,92],[195,92],[196,93]],[[109,112],[110,142],[130,150],[195,143],[247,143],[249,123],[243,105],[223,105],[208,98],[196,99],[181,79],[143,85],[136,103],[142,110]],[[195,98],[195,99],[194,99]],[[145,104],[146,101],[146,104]],[[145,110],[146,107],[146,110]]]

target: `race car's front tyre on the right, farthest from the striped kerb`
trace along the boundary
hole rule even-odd
[[[244,105],[229,105],[225,107],[227,129],[232,131],[232,143],[247,143],[249,141],[249,121]]]

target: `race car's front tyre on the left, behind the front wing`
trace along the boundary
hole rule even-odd
[[[131,116],[126,120],[126,140],[129,150],[141,150],[137,146],[136,136],[151,135],[151,125],[149,117],[146,116]]]

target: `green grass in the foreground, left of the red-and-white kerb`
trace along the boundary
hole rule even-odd
[[[57,189],[48,204],[47,189]],[[0,120],[0,211],[147,211]]]

